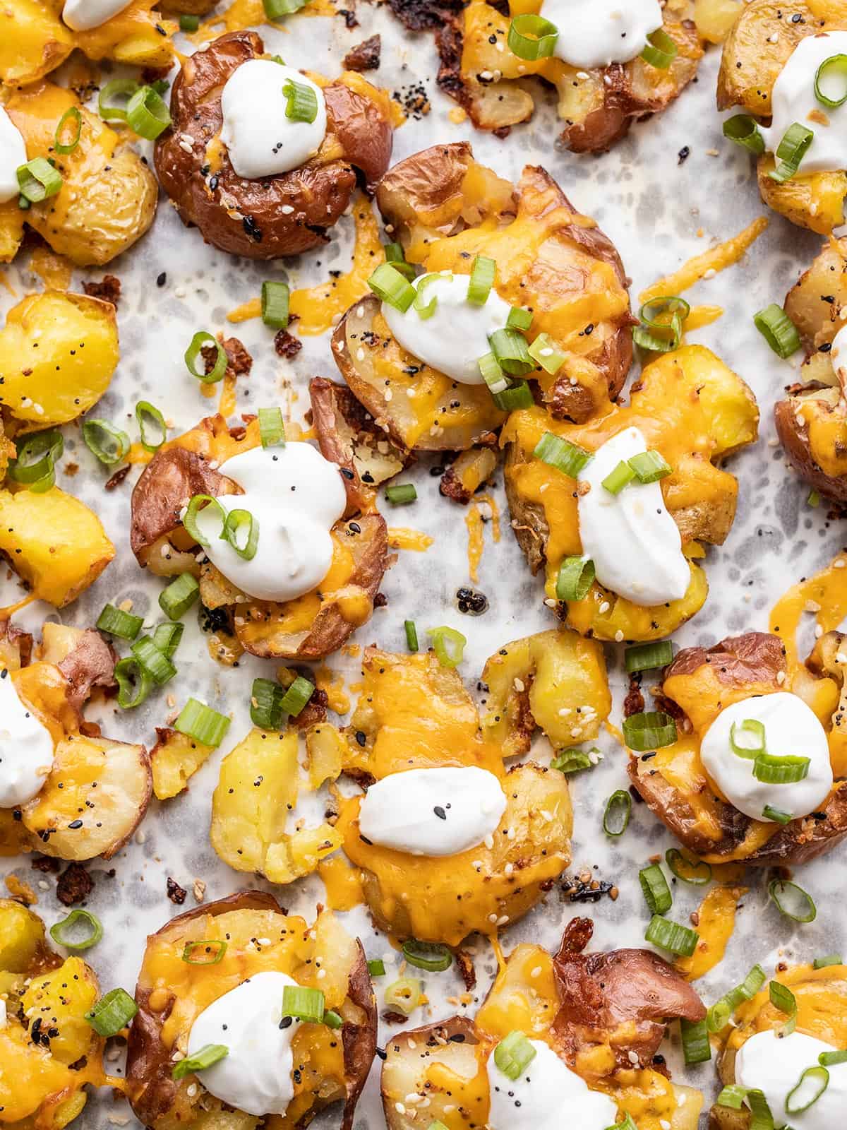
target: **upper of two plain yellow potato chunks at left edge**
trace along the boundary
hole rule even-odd
[[[115,307],[81,294],[30,294],[0,330],[0,405],[20,420],[67,424],[108,388],[120,353]]]

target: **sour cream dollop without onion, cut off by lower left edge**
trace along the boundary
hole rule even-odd
[[[11,675],[0,678],[0,808],[36,797],[53,767],[53,737],[26,706]]]

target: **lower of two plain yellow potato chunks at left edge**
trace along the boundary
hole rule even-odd
[[[59,487],[0,490],[0,549],[33,596],[58,608],[85,592],[115,555],[97,515]]]

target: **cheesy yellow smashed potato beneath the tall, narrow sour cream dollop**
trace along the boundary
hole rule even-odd
[[[559,565],[582,553],[575,483],[533,458],[545,432],[596,451],[625,427],[636,426],[662,452],[672,473],[662,479],[665,505],[682,536],[691,583],[682,600],[644,608],[594,582],[583,600],[559,602],[559,616],[582,635],[600,640],[657,640],[702,607],[708,585],[695,558],[698,542],[722,545],[735,516],[737,481],[717,463],[758,435],[752,392],[704,346],[658,356],[632,386],[629,406],[609,406],[582,426],[562,424],[540,406],[513,412],[500,443],[506,447],[506,495],[512,524],[530,568],[545,567],[548,599],[556,599]]]

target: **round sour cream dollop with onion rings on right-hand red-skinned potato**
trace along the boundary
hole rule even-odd
[[[769,754],[810,758],[805,780],[768,784],[753,776],[753,762],[734,754],[730,745],[733,722],[737,746],[757,745],[756,737],[741,729],[745,719],[762,723]],[[700,744],[700,757],[730,803],[754,820],[767,823],[762,816],[766,805],[792,816],[809,816],[832,789],[827,733],[812,709],[798,695],[785,692],[742,698],[721,711]]]

